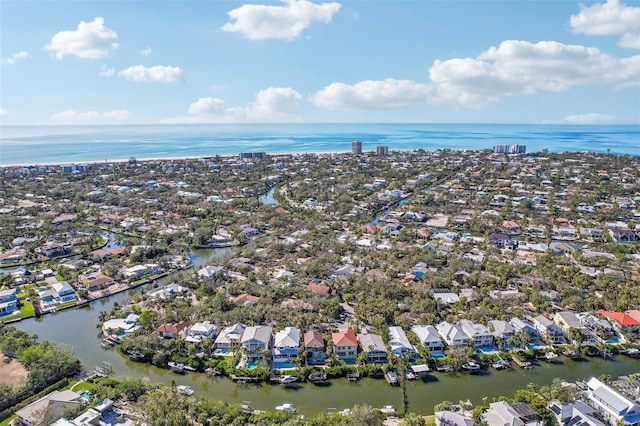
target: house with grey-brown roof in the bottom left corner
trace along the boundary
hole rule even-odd
[[[50,425],[64,414],[82,406],[82,397],[71,390],[53,391],[16,411],[20,424],[25,426]]]

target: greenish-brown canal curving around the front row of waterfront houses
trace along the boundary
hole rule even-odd
[[[198,250],[194,252],[195,265],[202,265],[211,256],[222,254],[228,249]],[[160,280],[161,284],[171,281],[171,277]],[[301,414],[313,414],[326,410],[342,410],[355,404],[369,404],[374,407],[392,404],[402,406],[402,391],[390,387],[383,379],[361,379],[349,383],[346,379],[332,380],[330,386],[319,387],[303,383],[298,389],[287,389],[277,385],[237,384],[223,377],[210,378],[206,374],[188,373],[177,375],[169,370],[148,364],[136,363],[122,356],[117,350],[102,349],[100,330],[96,327],[101,311],[110,311],[115,302],[126,303],[137,291],[145,287],[130,290],[110,297],[96,300],[91,304],[68,309],[57,314],[45,315],[14,323],[30,334],[37,334],[40,340],[49,340],[69,345],[75,355],[89,371],[103,362],[109,363],[114,377],[147,377],[151,382],[170,385],[191,386],[196,395],[231,403],[251,401],[254,409],[272,410],[276,405],[292,403]],[[555,378],[566,381],[588,379],[591,376],[608,374],[613,377],[640,372],[640,360],[622,355],[612,360],[585,358],[583,360],[565,359],[557,363],[541,363],[532,370],[518,367],[507,371],[487,370],[484,374],[430,373],[425,383],[420,380],[408,382],[410,410],[419,414],[432,414],[434,405],[442,401],[458,402],[471,400],[477,404],[484,397],[489,401],[500,396],[511,397],[518,389],[529,383],[548,385]]]

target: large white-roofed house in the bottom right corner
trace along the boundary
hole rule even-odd
[[[611,426],[640,425],[640,405],[595,377],[587,382],[587,397],[600,417]]]

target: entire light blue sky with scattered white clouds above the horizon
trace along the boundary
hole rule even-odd
[[[640,4],[0,3],[2,124],[640,123]]]

